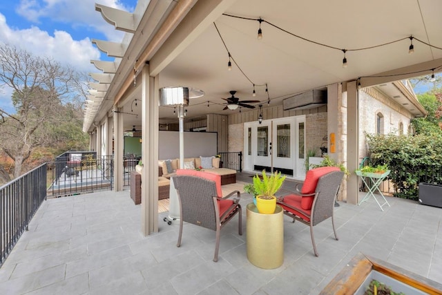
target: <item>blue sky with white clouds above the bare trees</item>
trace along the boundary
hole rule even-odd
[[[50,57],[78,70],[97,72],[91,59],[106,59],[92,39],[122,41],[106,23],[95,3],[133,12],[137,0],[2,0],[0,44],[10,44],[40,56]],[[13,111],[12,91],[0,86],[0,108]]]

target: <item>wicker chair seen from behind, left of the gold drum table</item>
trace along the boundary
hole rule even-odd
[[[183,222],[199,225],[216,231],[215,255],[218,261],[220,249],[220,230],[233,216],[238,214],[238,234],[242,235],[240,192],[232,191],[229,195],[218,196],[215,181],[191,175],[177,175],[173,183],[180,200],[180,234],[177,247],[181,245]],[[227,200],[236,195],[233,200]]]

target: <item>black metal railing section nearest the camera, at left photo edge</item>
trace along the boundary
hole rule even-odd
[[[0,187],[0,266],[46,199],[46,164]]]

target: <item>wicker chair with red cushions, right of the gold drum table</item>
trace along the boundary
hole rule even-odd
[[[296,187],[296,193],[278,199],[285,215],[310,227],[311,243],[315,256],[316,250],[313,227],[332,217],[332,226],[336,240],[338,235],[334,227],[334,202],[344,173],[337,167],[320,167],[307,172],[302,189]]]

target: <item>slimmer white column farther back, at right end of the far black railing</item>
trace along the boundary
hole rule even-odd
[[[122,111],[117,106],[113,107],[113,122],[115,133],[115,153],[113,161],[113,175],[114,175],[114,191],[123,190],[123,149],[124,149],[124,137],[123,137],[123,115],[119,113]]]

